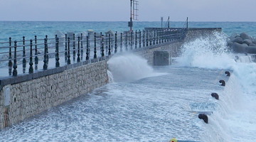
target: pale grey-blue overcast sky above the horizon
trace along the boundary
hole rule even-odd
[[[256,0],[138,0],[139,21],[256,21]],[[130,0],[0,0],[0,21],[129,21]]]

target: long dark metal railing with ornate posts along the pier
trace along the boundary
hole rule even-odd
[[[151,45],[181,40],[183,28],[145,28],[143,31],[124,33],[88,33],[87,35],[67,35],[65,37],[12,40],[0,43],[0,69],[9,68],[9,76],[48,70],[48,67],[70,65],[83,60],[96,59],[123,51],[144,48]],[[53,65],[55,60],[55,65]],[[28,72],[26,72],[26,67]],[[42,68],[41,68],[42,67]]]

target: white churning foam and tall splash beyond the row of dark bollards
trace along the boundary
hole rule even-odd
[[[226,36],[215,33],[183,45],[178,65],[232,70],[218,109],[209,116],[205,141],[255,141],[256,136],[256,64],[250,56],[229,53]]]

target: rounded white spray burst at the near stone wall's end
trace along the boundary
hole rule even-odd
[[[113,56],[107,65],[114,82],[133,82],[156,75],[144,58],[132,53]]]

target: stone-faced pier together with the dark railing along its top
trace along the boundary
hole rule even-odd
[[[67,34],[64,38],[46,36],[41,40],[43,43],[36,38],[29,40],[29,44],[25,39],[2,43],[9,44],[9,52],[4,52],[8,58],[1,60],[8,65],[1,71],[8,75],[3,75],[0,82],[0,128],[107,84],[107,60],[114,53],[136,52],[150,64],[155,50],[171,50],[176,55],[188,31],[162,28],[119,35],[94,33],[93,38],[73,34],[72,40]]]

